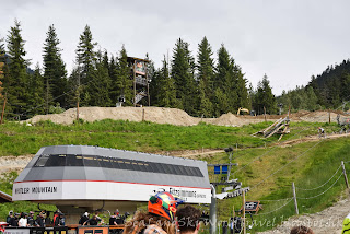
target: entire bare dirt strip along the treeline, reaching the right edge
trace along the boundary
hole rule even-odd
[[[194,126],[200,121],[220,126],[243,126],[256,124],[265,120],[265,116],[236,116],[232,113],[223,114],[219,118],[196,118],[189,116],[184,110],[165,107],[81,107],[79,117],[85,121],[102,119],[129,120],[129,121],[152,121],[158,124],[170,124],[177,126]],[[266,119],[275,121],[281,117],[279,115],[267,115]],[[337,113],[330,113],[330,119],[336,122]],[[329,113],[327,112],[300,112],[291,114],[292,121],[318,121],[327,122]],[[342,119],[348,118],[341,116]],[[26,120],[26,122],[37,122],[40,120],[51,120],[56,124],[71,125],[77,119],[77,108],[71,108],[62,114],[38,115]]]

